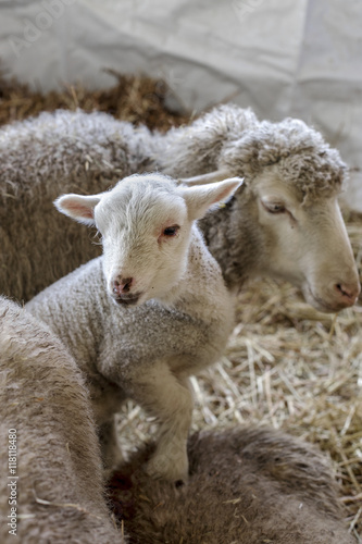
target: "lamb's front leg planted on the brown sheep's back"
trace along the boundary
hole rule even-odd
[[[158,362],[133,378],[132,396],[160,423],[157,448],[147,472],[152,478],[186,482],[187,435],[194,406],[188,379],[177,379],[166,362]]]

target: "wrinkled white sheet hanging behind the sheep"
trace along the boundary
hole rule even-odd
[[[361,0],[0,0],[0,59],[42,90],[110,86],[111,67],[164,77],[187,108],[299,116],[339,148],[362,210]]]

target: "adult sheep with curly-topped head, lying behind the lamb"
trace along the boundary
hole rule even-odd
[[[57,218],[51,201],[62,191],[102,191],[145,169],[189,184],[245,178],[244,189],[200,223],[230,288],[258,275],[287,280],[325,312],[352,306],[360,293],[337,203],[346,165],[301,121],[260,122],[226,104],[152,135],[105,114],[60,111],[2,128],[0,158],[0,292],[17,299],[98,255],[88,233]]]

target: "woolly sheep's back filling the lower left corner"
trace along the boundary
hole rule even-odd
[[[1,543],[124,543],[84,379],[48,327],[3,297],[0,382]]]

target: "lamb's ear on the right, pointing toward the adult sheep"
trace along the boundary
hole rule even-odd
[[[223,182],[194,187],[180,187],[185,198],[188,217],[201,219],[213,205],[227,200],[242,184],[241,177],[230,177]]]

